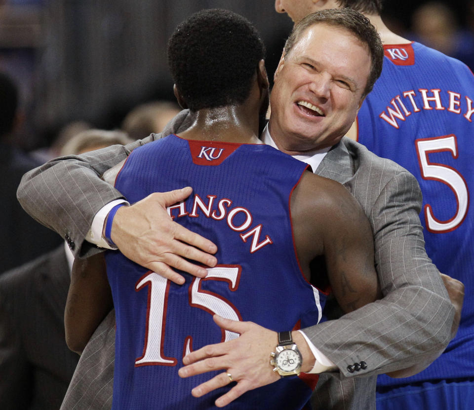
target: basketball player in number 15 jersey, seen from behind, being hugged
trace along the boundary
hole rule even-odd
[[[354,70],[352,79],[362,89],[370,53],[347,37],[359,52],[357,67],[365,68]],[[302,409],[317,378],[296,375],[310,372],[315,359],[304,336],[290,331],[318,323],[326,298],[310,281],[329,283],[346,312],[379,295],[372,231],[356,199],[342,185],[314,175],[305,163],[257,137],[258,113],[268,104],[263,56],[263,44],[250,23],[223,10],[191,16],[169,41],[175,94],[190,109],[192,125],[179,136],[135,149],[115,187],[135,203],[152,192],[193,186],[194,195],[169,207],[169,213],[219,244],[218,264],[205,279],[187,275],[180,286],[118,251],[107,254],[117,317],[113,409],[209,409],[229,391],[225,386],[192,397],[193,387],[208,374],[178,376],[185,354],[238,336],[221,331],[209,313],[259,323],[273,331],[275,342],[294,346],[281,353],[288,357],[276,358],[271,375],[275,381],[284,376],[277,384],[246,393],[230,408]],[[107,220],[109,241],[117,209]],[[310,262],[323,254],[328,276],[321,271],[312,277]],[[90,292],[92,285],[104,282],[98,262],[88,266],[97,277],[89,271],[87,282],[81,282],[75,275],[70,295],[80,292],[81,285]],[[67,312],[91,309],[95,303],[106,313],[111,306],[98,296],[69,298]],[[74,343],[82,329],[77,322],[66,324]],[[231,369],[215,375],[228,385],[233,380]]]

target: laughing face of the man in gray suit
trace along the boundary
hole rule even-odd
[[[349,130],[370,73],[368,48],[344,28],[315,24],[283,56],[270,95],[270,133],[296,153],[331,147]]]

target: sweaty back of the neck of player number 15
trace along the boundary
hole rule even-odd
[[[192,125],[179,136],[188,140],[260,144],[258,115],[247,115],[245,111],[241,106],[226,106],[192,112]]]

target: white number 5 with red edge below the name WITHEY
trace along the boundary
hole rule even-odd
[[[445,135],[436,138],[415,140],[420,170],[423,179],[442,182],[451,188],[456,196],[456,214],[447,221],[439,221],[433,215],[431,204],[425,205],[427,229],[433,233],[450,232],[461,225],[466,218],[469,208],[469,191],[463,176],[454,168],[445,164],[430,162],[429,154],[433,152],[450,151],[453,158],[458,157],[455,135]]]

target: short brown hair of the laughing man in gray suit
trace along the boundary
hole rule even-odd
[[[359,41],[367,46],[370,52],[371,65],[367,84],[363,92],[363,96],[366,96],[372,91],[375,81],[382,73],[384,47],[374,25],[360,12],[351,8],[334,8],[308,14],[304,19],[294,25],[290,37],[286,40],[284,53],[290,53],[306,29],[319,23],[349,30]]]

